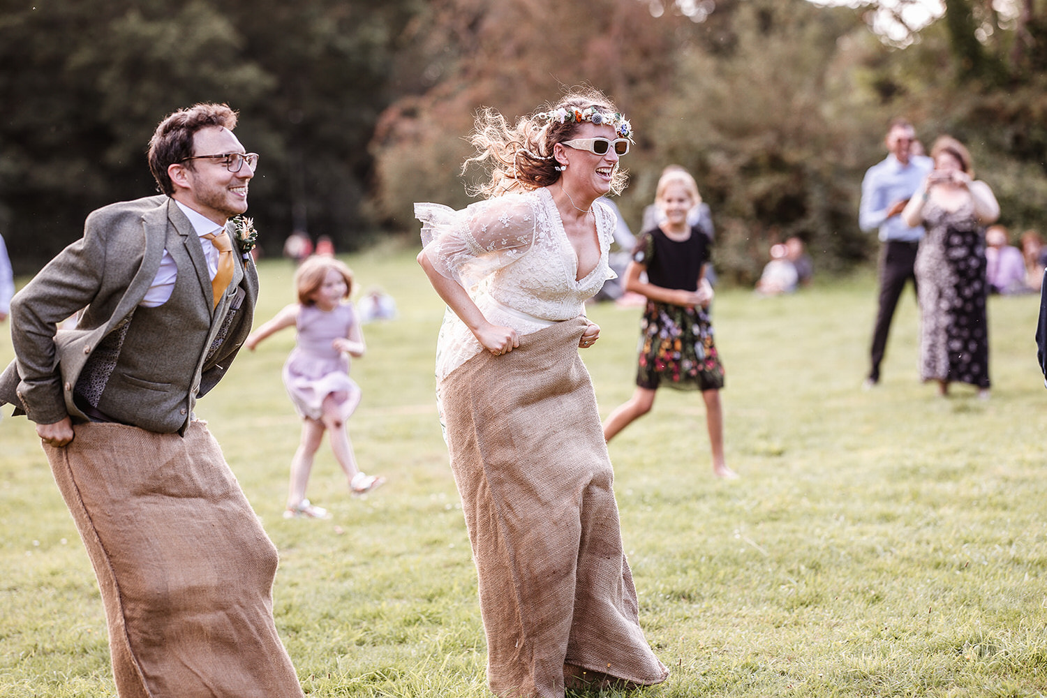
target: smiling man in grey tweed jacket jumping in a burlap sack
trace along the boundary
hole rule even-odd
[[[162,196],[93,211],[12,303],[0,399],[36,423],[102,590],[121,698],[302,696],[276,634],[276,548],[194,407],[247,337],[258,155],[225,105],[150,141]],[[79,314],[71,330],[60,322]]]

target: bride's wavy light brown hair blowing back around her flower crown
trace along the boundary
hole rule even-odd
[[[529,116],[522,116],[515,126],[489,107],[481,109],[469,142],[476,153],[462,164],[462,174],[471,163],[487,171],[486,181],[467,187],[470,196],[492,199],[515,190],[549,186],[560,179],[553,147],[571,140],[581,128],[579,121],[559,122],[549,114],[559,109],[582,111],[595,107],[605,114],[615,114],[618,108],[606,95],[595,88],[575,88],[564,93],[556,104],[547,104]],[[627,175],[621,165],[615,168],[610,193],[621,194]]]

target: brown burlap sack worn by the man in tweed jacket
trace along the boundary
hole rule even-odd
[[[94,566],[120,698],[302,696],[273,624],[276,548],[207,428],[74,428],[44,450]]]

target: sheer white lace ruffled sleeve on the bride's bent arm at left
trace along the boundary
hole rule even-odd
[[[530,251],[537,217],[530,198],[506,195],[461,210],[416,203],[422,244],[432,266],[467,290]]]

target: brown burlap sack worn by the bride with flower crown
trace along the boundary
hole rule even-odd
[[[504,698],[561,697],[577,668],[665,680],[644,639],[614,475],[588,371],[585,322],[559,322],[441,384],[451,468],[480,577],[488,680]]]

